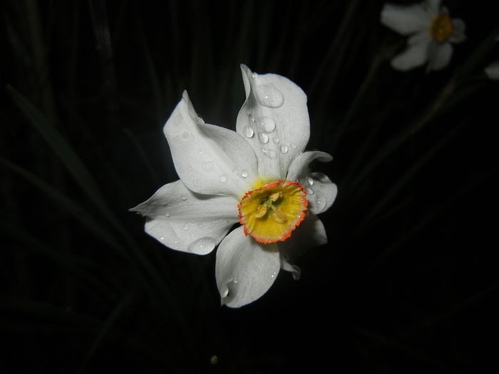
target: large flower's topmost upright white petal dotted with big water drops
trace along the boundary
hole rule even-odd
[[[237,115],[237,133],[256,153],[259,176],[282,179],[309,141],[307,95],[277,74],[259,75],[244,65],[241,70],[246,101]]]

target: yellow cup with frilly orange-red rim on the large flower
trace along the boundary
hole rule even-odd
[[[305,217],[307,192],[298,182],[278,180],[246,192],[237,205],[245,234],[260,243],[274,243],[291,237]]]

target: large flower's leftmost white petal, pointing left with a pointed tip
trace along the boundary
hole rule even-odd
[[[195,194],[180,180],[130,210],[148,217],[145,232],[160,243],[195,254],[212,251],[239,220],[233,197]]]

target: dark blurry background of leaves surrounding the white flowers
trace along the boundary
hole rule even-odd
[[[445,3],[468,36],[446,69],[402,73],[382,1],[1,2],[0,373],[498,370],[498,21],[475,3]],[[178,179],[182,90],[235,129],[240,63],[304,89],[339,195],[302,279],[235,310],[215,252],[128,209]]]

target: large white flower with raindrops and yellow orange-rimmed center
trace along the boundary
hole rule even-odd
[[[336,185],[309,171],[324,152],[309,141],[307,96],[291,80],[242,65],[246,101],[236,132],[205,124],[184,92],[163,131],[180,180],[132,210],[147,217],[145,232],[172,249],[217,249],[215,275],[222,304],[239,307],[262,296],[297,251],[327,241],[316,214],[331,207]],[[234,224],[240,226],[229,232]]]

